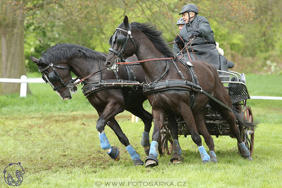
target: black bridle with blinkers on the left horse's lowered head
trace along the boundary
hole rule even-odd
[[[42,57],[41,57],[42,58]],[[39,58],[39,60],[41,59]],[[48,68],[52,68],[53,71],[51,73],[48,73],[46,72],[45,70],[47,70]],[[51,81],[51,83],[55,83],[58,79],[61,81],[61,85],[53,88],[54,91],[60,89],[61,87],[65,87],[65,88],[69,88],[69,89],[72,89],[73,88],[73,83],[75,80],[73,79],[70,79],[67,83],[64,83],[63,79],[61,78],[61,76],[59,75],[59,73],[57,72],[57,70],[54,68],[54,67],[58,67],[58,68],[66,68],[66,67],[63,67],[63,66],[57,66],[57,65],[53,65],[53,63],[50,63],[47,67],[43,68],[43,69],[38,69],[39,72],[41,72],[41,75],[42,75],[42,78],[43,80],[47,83],[49,82],[48,80],[46,80],[46,78],[44,77],[44,72],[48,73],[48,77],[49,77],[49,80]],[[70,68],[66,68],[66,69],[70,69]],[[50,84],[51,85],[51,84]],[[52,86],[53,87],[53,86]]]

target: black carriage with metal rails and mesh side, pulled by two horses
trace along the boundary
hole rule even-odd
[[[228,68],[233,68],[234,63],[232,61],[227,61]],[[236,106],[237,110],[241,113],[241,116],[249,122],[254,122],[253,114],[250,106],[246,104],[246,100],[250,99],[250,95],[248,93],[246,87],[246,78],[244,73],[240,74],[234,71],[222,71],[217,70],[221,78],[221,82],[224,84],[226,88],[226,92],[229,94],[231,98],[231,102],[234,106]],[[210,135],[214,135],[216,137],[219,136],[230,136],[234,138],[232,132],[229,132],[229,125],[224,117],[218,113],[216,110],[213,110],[209,104],[206,105],[208,113],[205,116],[205,125]],[[176,117],[178,123],[178,135],[190,135],[189,130],[187,129],[186,122],[182,117]],[[239,127],[240,135],[245,143],[246,147],[250,150],[250,154],[252,155],[254,149],[254,128],[247,129],[246,127],[241,127],[236,121],[237,127]],[[170,155],[172,153],[173,144],[171,133],[168,128],[168,121],[164,122],[164,128],[161,131],[161,145],[159,147],[159,153],[162,155]],[[239,150],[239,146],[238,146]],[[240,153],[240,151],[239,151]]]

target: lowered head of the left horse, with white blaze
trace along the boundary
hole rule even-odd
[[[71,99],[71,93],[75,94],[77,87],[73,86],[70,68],[67,64],[57,63],[57,65],[53,65],[53,63],[46,62],[43,56],[39,59],[33,56],[29,58],[38,66],[43,80],[49,83],[63,100]]]

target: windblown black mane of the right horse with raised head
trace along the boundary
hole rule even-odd
[[[155,25],[148,22],[132,22],[130,25],[137,31],[143,31],[143,33],[152,41],[156,48],[164,54],[164,56],[171,57],[174,55],[172,50],[165,44],[162,30],[157,30]]]

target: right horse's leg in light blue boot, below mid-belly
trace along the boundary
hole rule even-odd
[[[195,144],[197,144],[198,146],[198,150],[201,154],[201,159],[203,163],[209,162],[210,161],[210,157],[208,155],[208,153],[206,152],[204,146],[202,145],[202,138],[200,137],[198,131],[197,131],[197,127],[195,124],[195,120],[192,114],[192,111],[190,109],[189,106],[182,106],[181,108],[181,114],[182,117],[184,118],[186,125],[191,133],[191,137],[193,142],[195,142]]]

